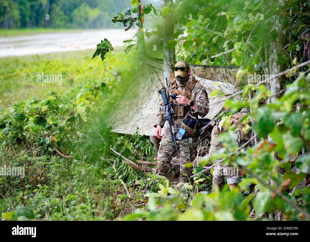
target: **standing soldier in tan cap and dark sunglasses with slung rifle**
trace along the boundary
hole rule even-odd
[[[198,118],[206,116],[209,111],[209,101],[205,88],[190,74],[188,63],[179,61],[174,67],[174,76],[172,75],[169,85],[166,88],[170,101],[173,102],[173,119],[176,129],[181,126],[186,117]],[[172,94],[177,94],[176,100],[171,98]],[[164,134],[161,136],[161,129],[165,124],[163,113],[164,103],[160,104],[159,112],[155,121],[156,136],[161,139],[157,162],[158,168],[163,176],[178,184],[188,182],[192,173],[192,163],[196,158],[196,147],[199,140],[195,132],[186,132],[181,140],[176,140],[180,153],[180,166],[171,164],[171,159],[175,154],[175,144],[171,140],[169,129],[166,127]],[[197,131],[197,130],[196,130]],[[188,164],[188,165],[187,165]]]

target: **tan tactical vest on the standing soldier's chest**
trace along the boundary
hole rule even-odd
[[[169,86],[169,101],[173,102],[173,111],[175,112],[173,114],[173,118],[184,118],[187,111],[187,108],[185,108],[184,104],[178,104],[178,102],[171,97],[171,95],[182,95],[184,97],[187,97],[189,100],[193,101],[193,95],[192,91],[194,87],[198,84],[198,82],[195,80],[195,78],[191,75],[188,79],[188,82],[184,86],[178,86],[176,79],[170,80],[170,86]],[[178,87],[181,87],[183,90],[178,90]]]

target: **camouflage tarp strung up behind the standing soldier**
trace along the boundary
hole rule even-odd
[[[144,61],[143,72],[136,75],[139,80],[128,90],[126,97],[117,103],[109,117],[108,123],[112,131],[122,134],[134,134],[139,128],[139,134],[155,135],[154,122],[158,105],[162,98],[158,90],[165,86],[163,61],[150,58]],[[192,74],[206,88],[210,101],[210,111],[205,118],[212,119],[223,108],[224,103],[212,105],[219,97],[210,97],[213,89],[231,94],[237,67],[233,66],[202,66],[189,64]]]

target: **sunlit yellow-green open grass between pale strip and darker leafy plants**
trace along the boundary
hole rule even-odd
[[[120,62],[124,52],[108,53],[104,62],[100,57],[92,60],[93,52],[85,50],[0,58],[0,112],[21,100],[33,96],[42,98],[49,89],[64,92],[85,82],[108,81],[111,70],[117,71],[117,65],[111,63]],[[42,72],[62,74],[62,85],[37,83],[37,75],[41,75]]]

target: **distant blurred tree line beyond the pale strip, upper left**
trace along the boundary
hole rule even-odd
[[[130,0],[2,0],[0,28],[111,28],[125,6]]]

